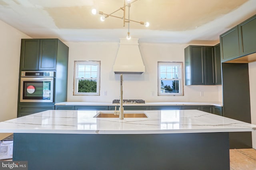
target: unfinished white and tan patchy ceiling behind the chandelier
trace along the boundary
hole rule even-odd
[[[91,10],[110,14],[123,5],[124,0],[0,0],[0,20],[32,38],[118,42],[128,23],[123,27],[114,17],[102,22]],[[146,43],[218,42],[221,33],[254,14],[256,0],[138,0],[131,4],[130,19],[150,26],[130,22],[130,33]]]

